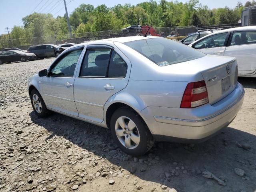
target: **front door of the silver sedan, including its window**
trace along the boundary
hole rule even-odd
[[[74,71],[84,46],[70,49],[50,67],[49,75],[42,77],[41,86],[48,108],[78,116],[74,102]]]

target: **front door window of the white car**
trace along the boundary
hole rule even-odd
[[[209,36],[207,38],[204,38],[202,41],[194,44],[194,48],[204,49],[204,48],[222,47],[224,46],[227,35],[228,35],[228,32]]]

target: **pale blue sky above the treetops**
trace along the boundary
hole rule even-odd
[[[118,3],[125,4],[130,3],[136,5],[140,2],[147,0],[66,0],[68,13],[70,14],[80,4],[92,4],[98,6],[106,4],[111,7]],[[188,0],[178,0],[178,2],[187,2]],[[237,1],[243,4],[246,0],[199,0],[201,4],[207,5],[209,8],[218,8],[228,6],[234,8]],[[159,2],[159,0],[157,0]],[[55,6],[54,6],[55,4]],[[38,5],[38,6],[37,6]],[[37,7],[36,7],[37,6]],[[52,8],[52,10],[51,10]],[[22,18],[28,14],[36,12],[50,12],[55,17],[60,15],[63,16],[65,13],[64,3],[61,0],[0,0],[0,34],[7,33],[6,26],[12,28],[14,25],[23,25]]]

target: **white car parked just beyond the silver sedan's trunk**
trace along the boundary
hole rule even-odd
[[[256,77],[256,26],[215,32],[189,46],[206,54],[236,57],[238,76]]]

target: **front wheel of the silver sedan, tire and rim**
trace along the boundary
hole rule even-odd
[[[46,108],[44,100],[38,90],[33,89],[30,93],[30,100],[34,112],[38,117],[47,117],[50,115],[51,111]]]

